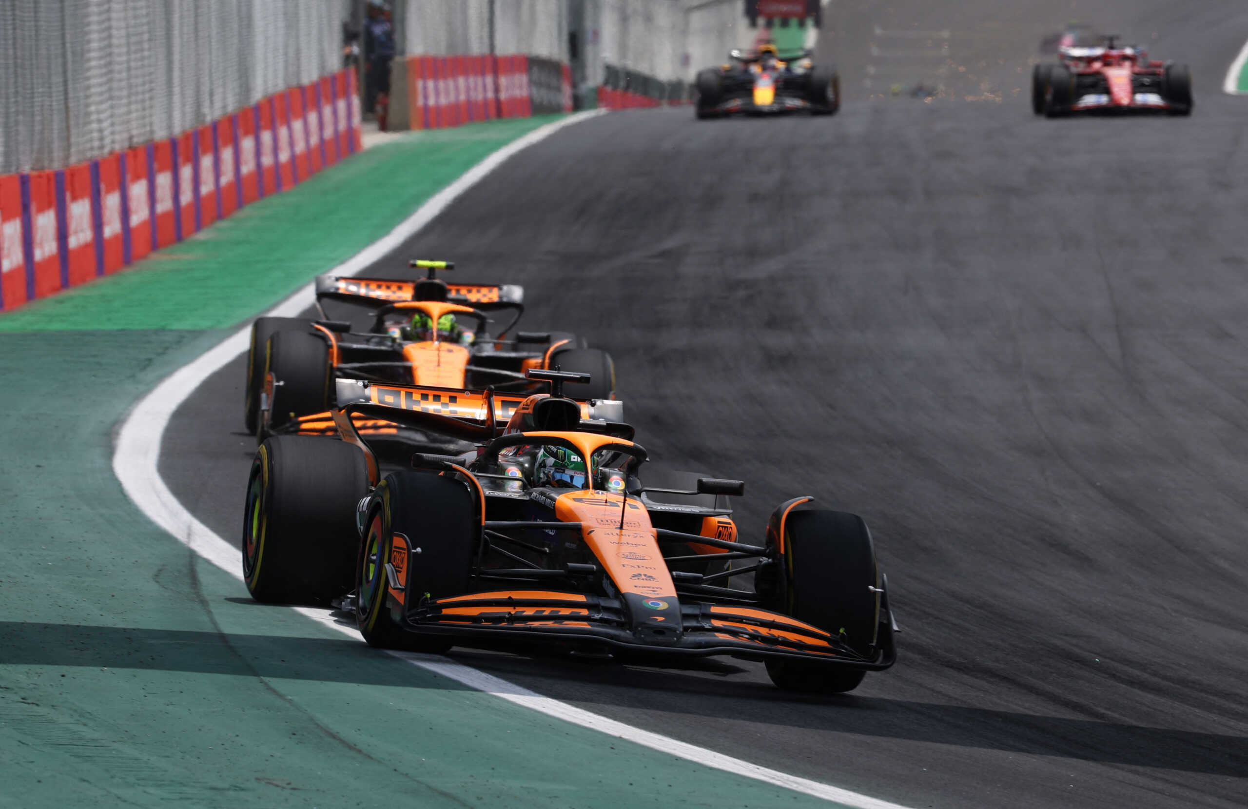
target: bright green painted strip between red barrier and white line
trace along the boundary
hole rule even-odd
[[[127,270],[0,313],[0,332],[238,323],[388,233],[490,152],[558,117],[417,132],[376,146]]]

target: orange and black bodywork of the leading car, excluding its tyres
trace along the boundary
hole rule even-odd
[[[584,418],[589,403],[577,403],[582,418],[569,429],[523,429],[525,423],[532,426],[527,417],[540,408],[543,398],[552,400],[524,400],[513,411],[508,431],[485,438],[474,451],[459,457],[416,456],[412,464],[418,471],[399,473],[458,481],[473,503],[473,528],[464,536],[421,536],[419,526],[429,521],[409,514],[407,524],[413,528],[391,526],[391,534],[378,542],[371,534],[382,524],[378,514],[389,513],[391,498],[401,497],[402,487],[393,476],[359,503],[361,571],[376,573],[362,573],[359,593],[369,594],[352,596],[357,606],[361,598],[371,603],[381,598],[376,609],[426,643],[549,644],[609,650],[654,664],[719,654],[866,670],[894,664],[895,623],[886,581],[874,561],[870,579],[861,583],[864,596],[872,592],[874,615],[862,635],[847,637],[842,627],[819,627],[786,614],[791,599],[786,601],[784,582],[791,576],[786,573],[791,549],[785,548],[785,521],[810,498],[796,498],[778,509],[765,543],[739,542],[731,511],[718,507],[718,501],[716,507],[704,507],[653,499],[651,492],[665,489],[646,489],[641,483],[646,452],[624,437],[631,437],[631,428]],[[374,417],[387,408],[376,397],[361,398],[336,411],[334,422],[343,439],[371,453],[371,442],[361,439],[351,414]],[[403,411],[388,419],[422,429],[442,423],[446,432],[461,436],[473,431],[484,436],[488,429],[479,419],[436,412]],[[585,458],[587,487],[569,491],[539,484],[525,456],[544,446],[564,446]],[[372,459],[369,471],[376,483],[381,474]],[[618,483],[604,483],[612,479]],[[699,486],[703,483],[740,486],[723,481],[700,481]],[[439,547],[446,542],[470,547],[470,569],[462,572],[467,584],[449,594],[431,596],[428,591],[434,588],[423,576],[434,576],[438,583],[461,576],[422,568],[443,558]],[[731,567],[736,561],[749,563]],[[746,591],[726,586],[745,573],[770,582],[769,587]],[[369,576],[374,586],[368,584]]]

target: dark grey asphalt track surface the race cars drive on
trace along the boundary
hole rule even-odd
[[[915,807],[1244,805],[1248,110],[1218,87],[1248,7],[998,5],[842,2],[836,117],[594,119],[378,265],[523,283],[530,328],[614,353],[653,457],[746,481],[745,536],[799,493],[862,513],[896,668],[814,699],[738,662],[453,657]],[[1189,61],[1193,117],[1033,119],[1027,60],[1071,17]],[[870,97],[876,25],[950,30],[943,74],[874,74],[943,97]],[[228,538],[241,383],[210,378],[162,462]]]

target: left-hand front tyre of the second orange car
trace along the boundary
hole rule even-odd
[[[273,375],[270,427],[328,409],[329,382],[333,378],[329,345],[317,335],[282,331],[270,337],[265,375],[270,373]]]

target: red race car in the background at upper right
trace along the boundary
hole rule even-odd
[[[1036,115],[1075,112],[1192,114],[1192,72],[1187,65],[1149,60],[1141,47],[1063,47],[1056,64],[1036,65],[1031,81]]]

